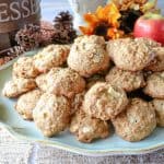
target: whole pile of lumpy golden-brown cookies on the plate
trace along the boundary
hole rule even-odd
[[[134,142],[164,127],[164,47],[147,38],[105,43],[81,36],[20,58],[3,95],[46,137],[69,128],[82,142],[107,138],[110,122]]]

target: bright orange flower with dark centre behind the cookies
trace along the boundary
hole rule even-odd
[[[85,35],[103,35],[105,39],[119,38],[124,35],[122,31],[119,31],[120,13],[114,3],[109,3],[106,7],[98,7],[95,13],[84,14],[84,20],[89,26],[80,26],[80,30]]]

